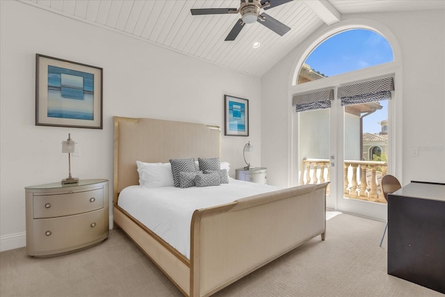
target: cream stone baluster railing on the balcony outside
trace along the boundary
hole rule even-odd
[[[330,161],[327,159],[303,159],[303,168],[304,184],[330,181]],[[381,180],[387,172],[387,162],[345,160],[343,163],[344,197],[386,203]]]

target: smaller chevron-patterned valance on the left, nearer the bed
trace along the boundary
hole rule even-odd
[[[293,95],[292,105],[296,106],[297,112],[330,109],[333,99],[334,89],[317,90],[312,93]]]

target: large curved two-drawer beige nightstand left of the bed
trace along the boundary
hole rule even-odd
[[[26,253],[60,255],[108,237],[108,180],[26,186]]]

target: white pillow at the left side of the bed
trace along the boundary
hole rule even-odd
[[[138,166],[139,184],[141,186],[146,188],[175,186],[170,163],[144,163],[136,161],[136,166]]]

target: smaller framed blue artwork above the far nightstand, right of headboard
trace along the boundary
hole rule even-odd
[[[249,100],[224,95],[226,136],[249,136]]]

